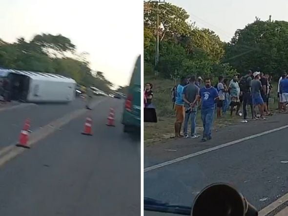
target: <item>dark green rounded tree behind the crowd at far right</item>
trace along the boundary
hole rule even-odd
[[[288,22],[255,20],[235,32],[226,45],[226,59],[239,72],[260,68],[280,75],[288,68]]]

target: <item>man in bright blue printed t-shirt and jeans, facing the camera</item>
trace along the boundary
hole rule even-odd
[[[206,78],[205,87],[202,87],[199,92],[201,98],[201,118],[203,122],[203,138],[205,142],[207,139],[211,139],[211,128],[214,117],[215,103],[219,99],[217,89],[211,86],[211,79]]]

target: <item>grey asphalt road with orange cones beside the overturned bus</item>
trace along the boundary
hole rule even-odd
[[[36,106],[28,114],[37,127],[81,106]],[[105,125],[110,107],[116,127]],[[123,133],[122,107],[123,100],[108,98],[0,167],[0,215],[140,215],[140,135]],[[48,112],[41,120],[40,110]],[[88,115],[93,136],[81,134]]]

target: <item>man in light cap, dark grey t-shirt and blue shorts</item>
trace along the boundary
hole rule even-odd
[[[263,118],[264,113],[264,101],[261,97],[261,91],[262,91],[262,84],[260,79],[260,72],[256,71],[253,73],[254,79],[251,81],[251,93],[252,93],[252,103],[253,103],[253,113],[254,118],[256,117],[256,107],[259,108],[260,112],[260,118]],[[264,119],[264,118],[263,118]]]

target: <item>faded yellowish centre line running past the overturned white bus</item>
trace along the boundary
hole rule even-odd
[[[103,98],[102,100],[97,100],[94,104],[92,104],[92,108],[98,106],[101,102],[107,100],[107,98]],[[53,134],[55,131],[59,130],[62,126],[68,124],[71,120],[78,118],[85,113],[91,112],[90,110],[81,109],[76,110],[74,112],[68,113],[62,118],[58,118],[53,122],[37,129],[34,131],[28,142],[28,146],[34,145],[38,141],[44,139],[45,137]],[[51,127],[52,126],[52,127]],[[23,148],[19,148],[15,146],[16,143],[6,146],[0,149],[0,166],[4,165],[9,160],[13,159],[14,157],[20,155],[22,152],[25,151]]]

